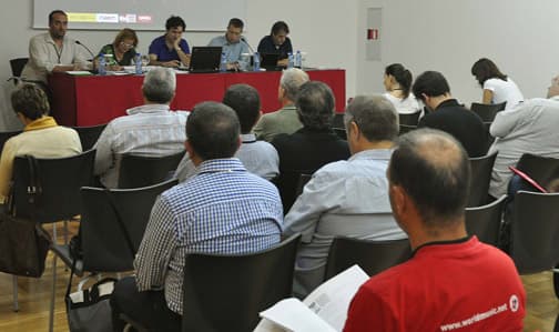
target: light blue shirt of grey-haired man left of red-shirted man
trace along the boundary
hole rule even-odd
[[[323,282],[332,240],[344,235],[396,240],[407,235],[392,214],[386,169],[392,150],[365,150],[313,174],[285,215],[285,235],[302,233],[294,292],[304,296]]]

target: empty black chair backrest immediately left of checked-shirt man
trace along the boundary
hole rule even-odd
[[[119,224],[116,213],[135,253],[142,242],[155,199],[176,183],[176,180],[170,180],[136,189],[82,188],[83,212],[80,232],[83,270],[93,272],[133,270],[134,256],[130,252],[126,235]]]

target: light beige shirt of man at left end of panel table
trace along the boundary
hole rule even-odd
[[[21,77],[31,81],[47,82],[47,74],[57,66],[79,63],[82,69],[88,68],[85,56],[75,40],[64,37],[62,48],[59,49],[49,32],[38,34],[29,41],[29,61],[21,72]]]

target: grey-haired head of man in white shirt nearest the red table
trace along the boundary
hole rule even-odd
[[[157,67],[150,70],[142,85],[143,95],[148,101],[170,103],[176,89],[176,77],[172,69]]]

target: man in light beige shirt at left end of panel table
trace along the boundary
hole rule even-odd
[[[29,61],[21,72],[28,81],[47,84],[47,74],[90,68],[75,40],[65,36],[68,16],[62,10],[49,14],[49,32],[31,38]]]

